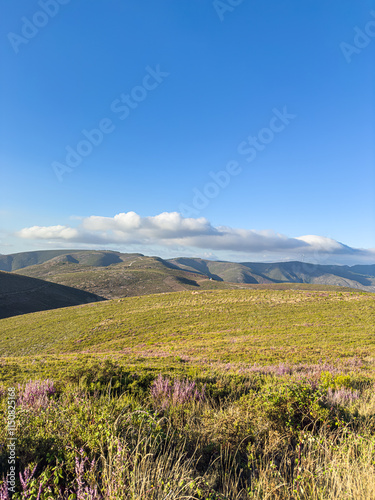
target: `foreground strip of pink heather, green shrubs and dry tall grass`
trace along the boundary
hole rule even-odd
[[[24,382],[13,498],[374,498],[374,380],[350,364]]]

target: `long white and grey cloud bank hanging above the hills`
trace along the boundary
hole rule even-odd
[[[141,245],[196,249],[199,251],[234,252],[241,255],[266,253],[287,259],[306,256],[351,257],[375,262],[375,250],[352,248],[331,238],[318,235],[288,237],[271,230],[256,231],[227,226],[214,227],[203,218],[185,218],[178,212],[164,212],[141,217],[135,212],[114,217],[90,216],[77,227],[32,226],[17,236],[51,243],[87,245]]]

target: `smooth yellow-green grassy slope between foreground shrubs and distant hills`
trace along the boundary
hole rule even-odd
[[[1,356],[252,364],[375,356],[375,297],[230,290],[126,298],[1,320]]]

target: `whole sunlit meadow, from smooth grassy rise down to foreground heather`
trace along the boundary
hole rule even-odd
[[[374,306],[307,286],[3,319],[0,476],[14,387],[15,499],[375,499]]]

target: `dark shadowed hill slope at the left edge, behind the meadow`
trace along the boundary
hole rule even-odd
[[[0,318],[101,300],[90,292],[0,271]]]

